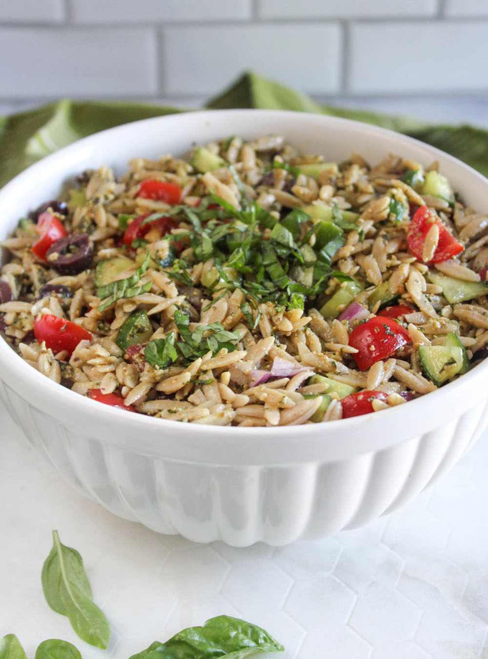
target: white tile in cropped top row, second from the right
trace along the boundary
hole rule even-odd
[[[437,0],[257,1],[260,18],[392,18],[433,16],[437,11]]]

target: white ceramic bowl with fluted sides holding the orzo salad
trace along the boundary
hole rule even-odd
[[[280,133],[328,160],[388,152],[434,159],[466,202],[488,209],[488,181],[460,161],[389,130],[263,110],[146,119],[80,140],[0,191],[0,239],[59,194],[66,179],[136,156],[181,155],[228,135]],[[446,472],[488,423],[488,362],[407,405],[326,424],[226,428],[128,414],[65,389],[0,339],[0,395],[32,445],[76,489],[126,519],[196,542],[286,544],[357,527]]]

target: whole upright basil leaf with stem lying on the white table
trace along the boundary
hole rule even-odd
[[[61,544],[57,531],[53,531],[53,548],[42,567],[41,579],[51,609],[68,617],[80,639],[98,648],[106,648],[110,625],[104,612],[92,600],[92,588],[83,560],[75,549]]]

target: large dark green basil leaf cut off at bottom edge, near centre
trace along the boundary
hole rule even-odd
[[[155,641],[130,659],[245,659],[257,652],[283,650],[264,629],[239,618],[218,616],[203,627],[183,629],[166,643]]]

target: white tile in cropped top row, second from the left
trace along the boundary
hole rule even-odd
[[[251,0],[71,0],[77,23],[243,20]]]

